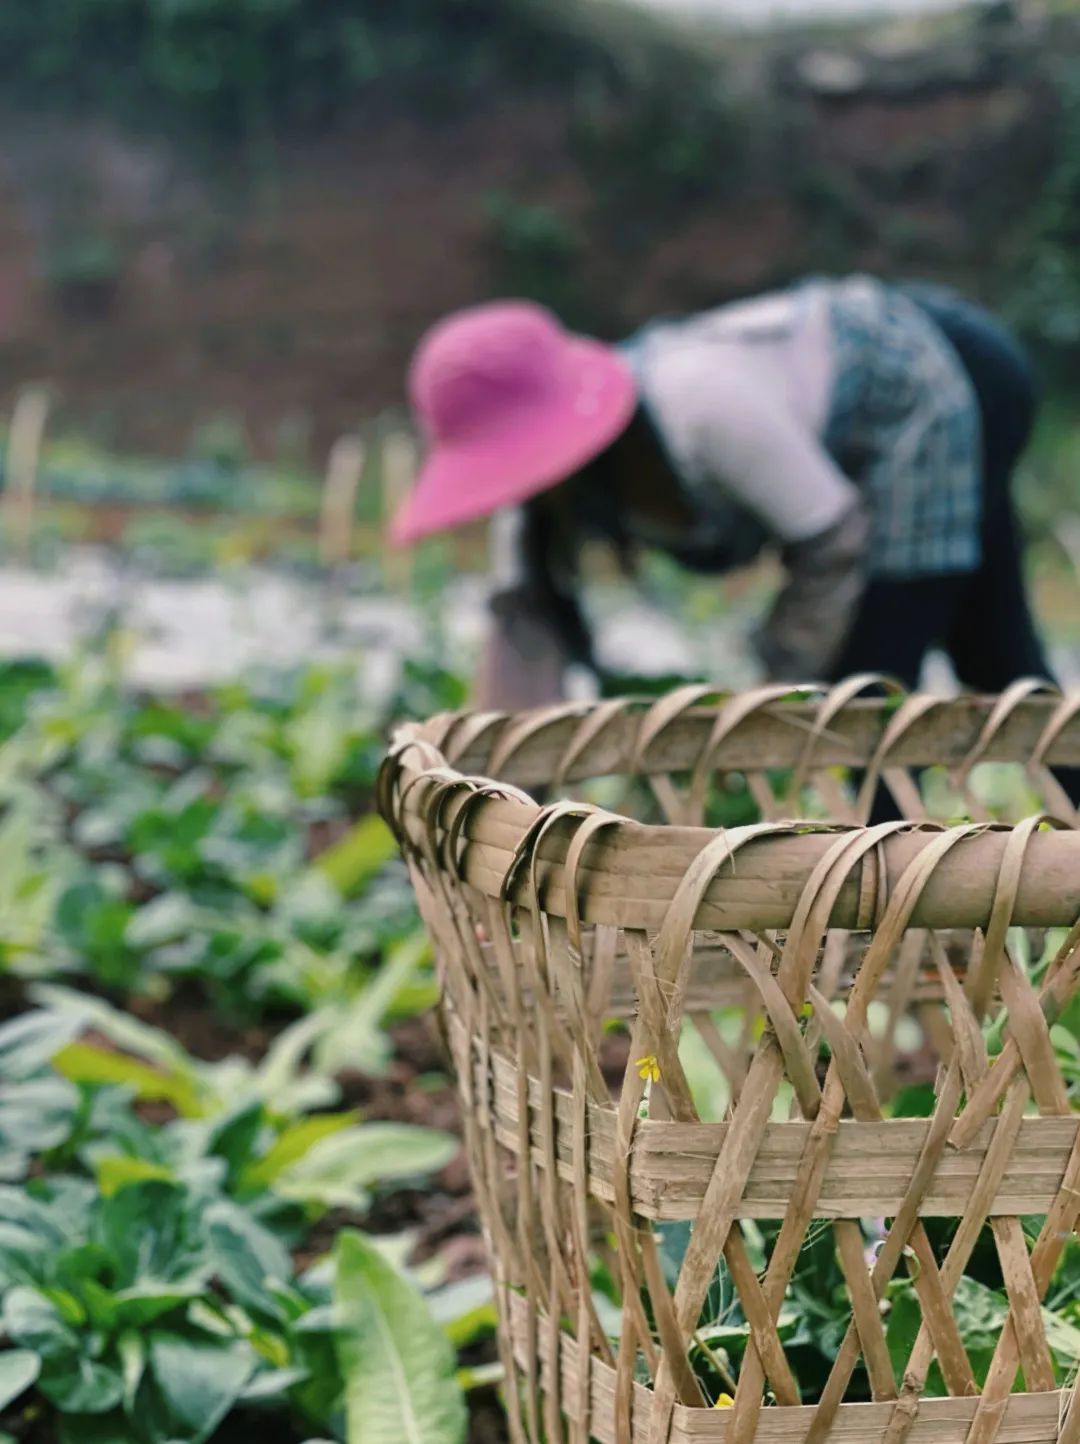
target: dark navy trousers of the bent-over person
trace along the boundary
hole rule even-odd
[[[982,419],[982,560],[976,572],[874,580],[836,666],[836,679],[888,671],[914,687],[923,658],[941,647],[960,682],[1002,692],[1019,677],[1050,677],[1024,586],[1012,475],[1035,419],[1035,381],[1009,332],[976,306],[931,287],[907,287],[967,371]],[[1073,801],[1080,770],[1058,768]],[[875,820],[881,820],[878,799]],[[891,810],[891,809],[887,809]]]

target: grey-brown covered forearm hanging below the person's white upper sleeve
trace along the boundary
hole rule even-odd
[[[869,516],[858,503],[820,536],[787,546],[787,585],[752,638],[774,682],[832,676],[866,586]]]

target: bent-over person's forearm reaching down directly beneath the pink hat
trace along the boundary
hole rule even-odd
[[[567,578],[560,540],[540,508],[495,517],[491,527],[494,593],[475,683],[485,710],[546,706],[565,696],[570,666],[592,666],[592,640]]]

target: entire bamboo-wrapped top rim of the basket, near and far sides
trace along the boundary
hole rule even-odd
[[[713,735],[718,718],[732,702],[741,710],[725,741],[738,742],[738,729],[781,716],[780,726],[796,734],[798,742],[788,761],[804,770],[816,765],[813,751],[807,762],[806,739],[811,749],[820,749],[836,736],[842,736],[849,762],[876,765],[879,771],[894,762],[913,765],[917,757],[933,758],[933,748],[940,752],[943,741],[951,754],[944,760],[960,774],[990,760],[1012,758],[1027,765],[1032,758],[1042,765],[1044,755],[1054,761],[1073,755],[1080,760],[1080,697],[1063,699],[1060,693],[868,699],[848,687],[822,693],[813,702],[788,703],[764,689],[703,706],[702,690],[684,689],[680,697],[671,695],[651,706],[625,699],[618,705],[575,703],[515,716],[443,713],[424,723],[406,723],[394,735],[380,777],[383,816],[406,851],[424,855],[429,865],[452,869],[487,897],[528,905],[530,890],[539,888],[546,913],[585,926],[658,927],[694,859],[710,848],[726,846],[731,856],[716,868],[696,926],[784,928],[814,868],[837,839],[862,835],[869,843],[868,826],[806,820],[729,829],[641,823],[585,803],[541,806],[513,781],[459,770],[462,760],[479,748],[487,749],[488,758],[505,762],[515,748],[531,747],[536,752],[556,732],[565,744],[567,726],[579,734],[591,729],[586,747],[578,749],[588,760],[589,748],[602,742],[604,729],[611,732],[621,723],[635,729],[640,761],[651,747],[663,748],[679,728],[683,736],[687,728],[699,739]],[[837,697],[840,690],[843,696]],[[781,708],[791,709],[794,725]],[[895,726],[897,718],[904,726]],[[856,731],[845,735],[843,726]],[[895,736],[882,757],[881,739],[888,741],[889,729]],[[627,745],[624,736],[619,747]],[[839,744],[832,745],[836,749]],[[723,757],[713,748],[709,768],[723,765]],[[546,775],[553,775],[550,765]],[[575,835],[586,820],[591,840],[573,859],[570,879],[566,865]],[[1035,832],[1025,848],[1014,921],[1024,927],[1070,927],[1080,915],[1080,832],[1054,830],[1050,817],[1044,826],[1047,830]],[[911,926],[986,926],[1015,826],[989,822],[947,827],[911,822],[879,833],[840,888],[830,926],[872,928],[905,871],[943,833],[957,845],[937,862]]]

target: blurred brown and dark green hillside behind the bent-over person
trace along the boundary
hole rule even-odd
[[[615,335],[806,270],[956,280],[1080,335],[1064,12],[664,29],[604,0],[43,0],[0,12],[0,393],[261,453],[401,401],[440,312]]]

